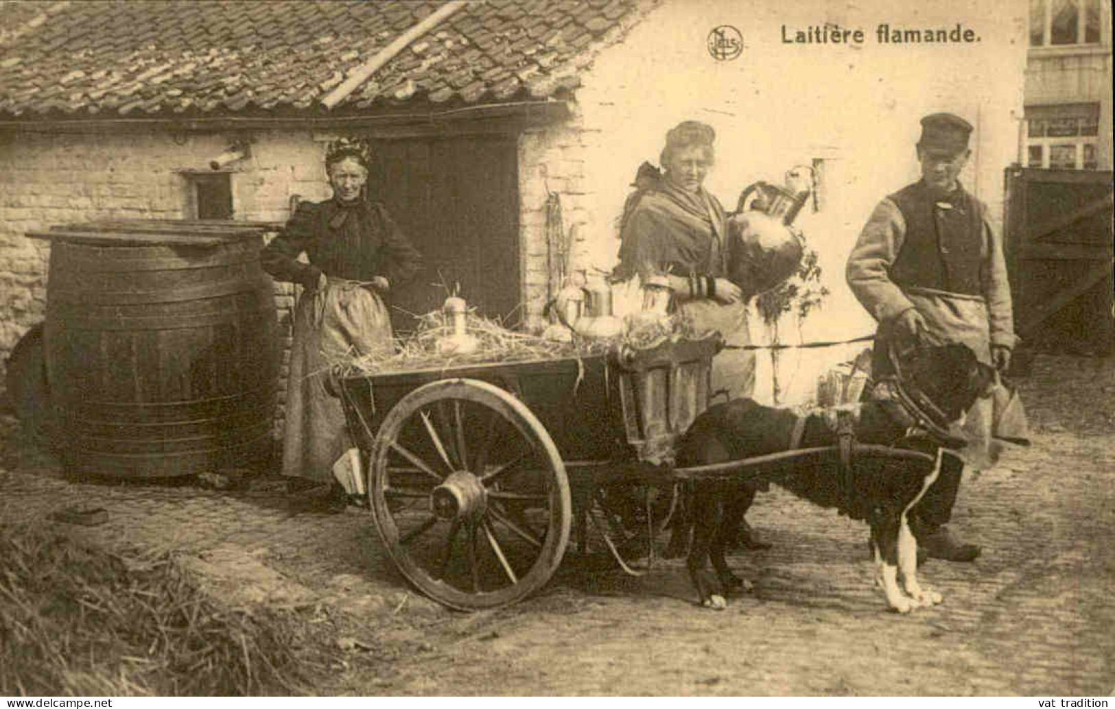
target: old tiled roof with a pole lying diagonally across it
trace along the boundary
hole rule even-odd
[[[369,113],[560,97],[640,0],[476,0],[332,111],[320,100],[440,2],[0,3],[0,118]]]

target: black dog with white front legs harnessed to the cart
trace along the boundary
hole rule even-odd
[[[845,465],[847,459],[833,462],[830,456],[825,462],[789,460],[759,473],[762,479],[803,499],[866,521],[876,581],[886,594],[888,605],[906,613],[941,602],[938,593],[918,583],[918,543],[908,515],[937,480],[946,450],[963,446],[963,440],[947,428],[961,421],[978,398],[990,396],[995,372],[964,344],[920,347],[902,360],[896,396],[884,401],[804,417],[750,399],[710,407],[679,441],[677,465],[701,466],[793,448],[835,446],[840,439],[837,414],[851,417],[844,418],[844,431],[853,433],[856,443],[928,454],[935,463],[852,457],[851,465]],[[692,526],[687,566],[701,604],[723,609],[727,605],[726,592],[744,585],[728,569],[724,555],[749,498],[740,494],[741,483],[736,480],[697,483],[694,487],[686,505],[686,519]],[[709,560],[715,580],[705,571]]]

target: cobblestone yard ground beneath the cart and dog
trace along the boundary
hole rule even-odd
[[[866,527],[779,491],[750,515],[774,548],[731,560],[755,590],[721,613],[679,562],[633,579],[572,555],[534,599],[454,613],[407,589],[367,513],[299,512],[266,485],[78,484],[16,445],[0,515],[101,506],[80,534],[172,550],[244,603],[343,619],[322,693],[1111,695],[1115,360],[1043,356],[1021,385],[1034,446],[968,477],[954,512],[983,555],[929,562],[944,604],[905,616],[872,584]]]

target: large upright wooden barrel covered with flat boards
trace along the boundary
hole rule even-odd
[[[103,222],[51,241],[47,378],[68,469],[172,477],[269,455],[278,373],[264,225]]]

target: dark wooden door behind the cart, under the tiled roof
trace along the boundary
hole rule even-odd
[[[449,289],[508,324],[522,318],[517,146],[513,136],[372,142],[369,193],[423,253],[425,265],[391,294],[391,322],[442,307]]]

